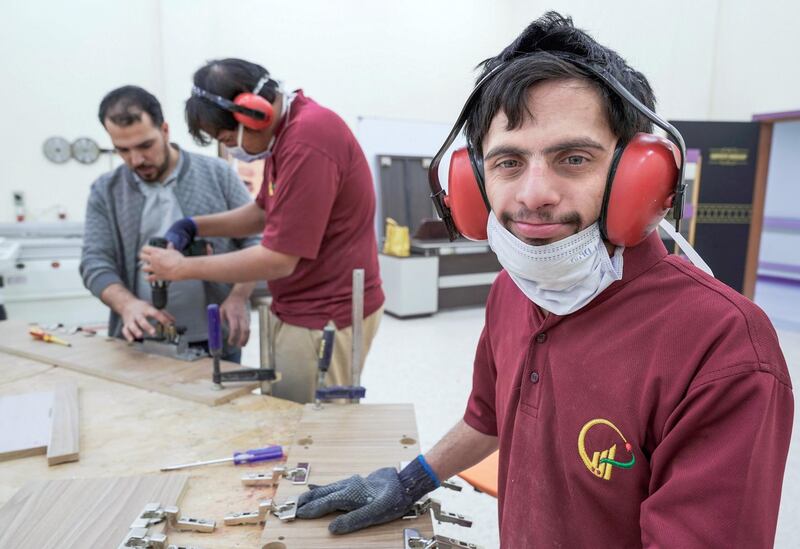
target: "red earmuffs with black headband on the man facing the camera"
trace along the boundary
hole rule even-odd
[[[536,51],[527,55],[541,55]],[[686,145],[683,137],[669,122],[648,109],[608,72],[586,60],[565,52],[546,52],[583,69],[601,80],[621,99],[633,106],[670,140],[650,133],[637,133],[627,143],[618,143],[606,179],[600,211],[603,237],[617,246],[635,246],[655,230],[669,208],[673,209],[675,228],[683,216],[683,183]],[[436,153],[428,169],[428,183],[439,217],[445,222],[451,240],[463,235],[470,240],[486,240],[486,222],[490,206],[486,196],[483,157],[467,138],[466,148],[453,152],[448,172],[448,192],[439,182],[439,163],[458,137],[467,117],[478,102],[479,92],[515,57],[491,70],[467,98],[461,114],[444,145]]]

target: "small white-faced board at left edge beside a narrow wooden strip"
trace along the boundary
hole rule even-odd
[[[52,407],[50,391],[0,398],[0,461],[47,452]]]

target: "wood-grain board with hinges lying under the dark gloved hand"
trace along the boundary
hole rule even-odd
[[[320,410],[308,404],[298,425],[287,465],[310,464],[309,482],[328,484],[351,475],[368,475],[380,467],[397,467],[419,454],[414,407],[411,404],[341,404]],[[297,497],[308,486],[283,481],[277,503]],[[390,549],[403,545],[403,529],[432,535],[430,515],[397,520],[345,536],[328,532],[329,515],[316,520],[281,522],[270,516],[261,537],[263,547],[275,549]]]

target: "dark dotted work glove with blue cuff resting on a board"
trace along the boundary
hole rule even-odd
[[[297,500],[297,518],[313,519],[346,511],[329,525],[332,534],[348,534],[402,517],[414,503],[438,488],[439,479],[422,456],[397,472],[384,467],[366,478],[350,478],[313,486]]]

